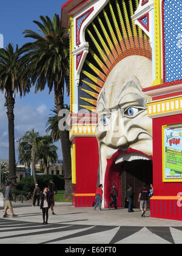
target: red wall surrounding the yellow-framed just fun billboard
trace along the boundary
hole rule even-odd
[[[177,196],[182,182],[163,182],[162,126],[182,123],[182,114],[153,119],[153,195]]]

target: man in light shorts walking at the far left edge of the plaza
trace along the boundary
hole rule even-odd
[[[5,207],[4,207],[3,218],[8,218],[8,215],[7,215],[7,209],[8,208],[10,209],[13,218],[18,217],[18,215],[15,215],[14,212],[13,212],[11,187],[12,187],[12,182],[8,181],[7,186],[5,187],[5,190],[4,190],[4,193],[5,193]]]

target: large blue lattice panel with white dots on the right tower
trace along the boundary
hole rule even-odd
[[[165,82],[182,79],[182,2],[164,1]]]

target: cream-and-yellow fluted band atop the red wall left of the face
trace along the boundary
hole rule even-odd
[[[70,140],[72,141],[75,136],[77,136],[77,137],[83,137],[83,136],[95,137],[95,131],[96,131],[96,124],[92,125],[92,126],[91,125],[83,126],[83,125],[74,124],[69,132]]]

